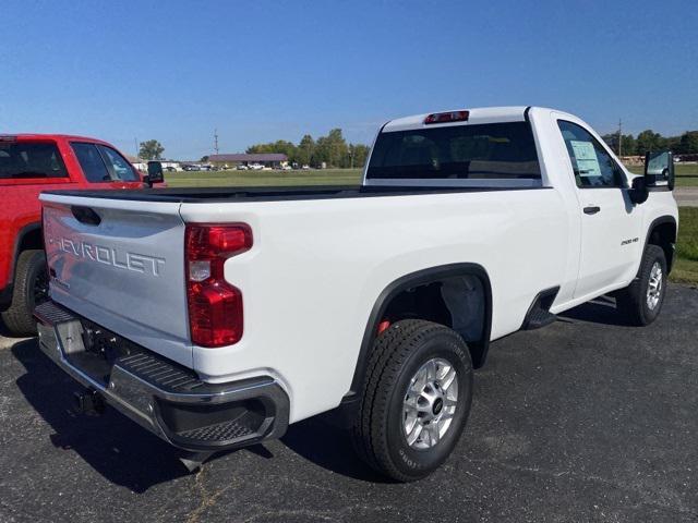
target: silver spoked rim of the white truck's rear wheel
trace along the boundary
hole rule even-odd
[[[446,360],[428,361],[405,394],[402,429],[407,443],[430,449],[446,435],[458,404],[458,373]]]

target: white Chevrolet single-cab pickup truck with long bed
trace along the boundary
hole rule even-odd
[[[360,186],[47,192],[40,346],[83,408],[195,463],[333,411],[371,466],[418,479],[492,340],[609,293],[657,317],[672,187],[670,153],[635,177],[580,119],[510,107],[386,123]]]

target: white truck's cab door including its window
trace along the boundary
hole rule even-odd
[[[607,149],[580,124],[558,120],[581,214],[579,275],[574,297],[630,279],[639,259],[641,219],[628,180]]]

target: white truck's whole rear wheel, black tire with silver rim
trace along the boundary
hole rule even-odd
[[[400,482],[429,475],[450,454],[470,413],[472,363],[462,338],[419,319],[375,341],[352,430],[358,454]]]

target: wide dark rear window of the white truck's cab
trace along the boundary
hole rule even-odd
[[[528,122],[449,125],[381,133],[368,179],[541,178]]]

